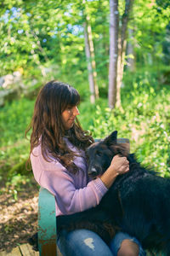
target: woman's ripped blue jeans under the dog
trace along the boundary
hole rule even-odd
[[[145,256],[139,241],[127,233],[118,232],[108,246],[100,236],[91,230],[62,230],[57,245],[63,256],[116,256],[122,241],[129,239],[139,246],[139,256]]]

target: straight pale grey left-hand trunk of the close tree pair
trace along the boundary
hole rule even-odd
[[[117,74],[117,56],[118,56],[118,29],[119,12],[118,0],[110,0],[110,65],[109,65],[109,107],[115,108],[116,105],[116,74]]]

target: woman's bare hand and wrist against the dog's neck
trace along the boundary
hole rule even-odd
[[[116,177],[129,171],[129,162],[126,157],[116,154],[111,160],[111,165],[100,177],[105,187],[109,189]]]

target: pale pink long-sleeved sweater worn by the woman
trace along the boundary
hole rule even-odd
[[[31,154],[31,166],[37,183],[55,196],[56,216],[95,207],[108,190],[99,177],[89,181],[84,152],[74,147],[68,139],[65,141],[71,150],[81,154],[74,159],[79,168],[77,174],[68,172],[58,160],[44,160],[41,145],[34,148]]]

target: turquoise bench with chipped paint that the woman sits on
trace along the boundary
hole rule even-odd
[[[125,138],[117,139],[119,143],[128,143]],[[97,141],[97,140],[95,140]],[[62,256],[56,246],[57,228],[55,217],[55,197],[47,189],[40,188],[38,199],[38,249],[41,256]],[[149,256],[150,253],[147,253]],[[152,254],[163,256],[160,254]]]

